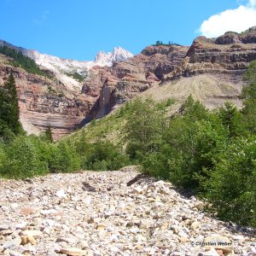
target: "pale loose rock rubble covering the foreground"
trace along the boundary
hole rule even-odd
[[[118,172],[0,180],[0,255],[256,255],[171,183]]]

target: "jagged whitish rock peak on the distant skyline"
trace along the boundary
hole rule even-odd
[[[113,52],[100,51],[95,57],[95,62],[100,66],[112,66],[113,62],[125,61],[132,56],[130,51],[118,46],[113,48]]]

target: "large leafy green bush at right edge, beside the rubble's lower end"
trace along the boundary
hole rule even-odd
[[[203,195],[212,212],[237,224],[256,227],[256,137],[237,139],[215,156]]]

